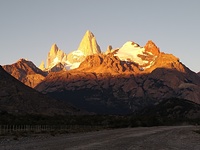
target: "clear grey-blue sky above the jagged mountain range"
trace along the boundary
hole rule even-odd
[[[200,71],[200,0],[0,0],[0,65],[39,66],[56,43],[76,50],[90,30],[102,51],[152,40]]]

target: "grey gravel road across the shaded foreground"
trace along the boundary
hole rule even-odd
[[[200,150],[197,129],[200,127],[140,127],[0,139],[0,150]]]

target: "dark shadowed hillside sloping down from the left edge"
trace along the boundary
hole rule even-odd
[[[55,100],[24,85],[0,66],[0,111],[13,114],[74,114],[66,102]]]

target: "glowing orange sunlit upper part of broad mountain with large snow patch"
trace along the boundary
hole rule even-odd
[[[144,47],[128,41],[121,48],[108,51],[104,55],[86,57],[80,69],[89,72],[144,74],[162,67],[185,72],[185,67],[179,62],[179,58],[172,54],[161,53],[151,40]]]

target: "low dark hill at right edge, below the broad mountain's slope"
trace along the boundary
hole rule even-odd
[[[139,114],[148,117],[160,117],[160,119],[198,119],[200,117],[200,105],[184,99],[170,98],[143,109]]]

